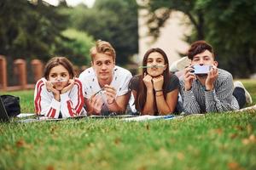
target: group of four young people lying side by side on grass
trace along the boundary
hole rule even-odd
[[[38,115],[108,116],[124,114],[127,108],[141,115],[195,114],[236,111],[252,103],[241,82],[234,87],[232,75],[218,68],[212,46],[205,41],[192,43],[188,57],[173,63],[183,70],[180,77],[169,70],[166,53],[160,48],[146,52],[142,73],[134,77],[115,65],[116,53],[109,42],[97,41],[90,57],[91,67],[79,78],[67,58],[49,60],[35,88]]]

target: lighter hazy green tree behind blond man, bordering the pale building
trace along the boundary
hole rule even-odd
[[[74,20],[75,19],[75,20]],[[80,5],[71,13],[73,26],[96,39],[110,42],[117,53],[117,63],[125,65],[138,51],[137,3],[135,0],[96,1],[93,8]]]

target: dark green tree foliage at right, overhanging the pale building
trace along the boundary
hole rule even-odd
[[[181,11],[194,26],[189,43],[199,39],[210,42],[217,52],[219,66],[234,77],[248,77],[256,71],[255,1],[151,0],[143,7],[151,12],[148,25],[154,37],[159,36],[160,27],[172,11]]]

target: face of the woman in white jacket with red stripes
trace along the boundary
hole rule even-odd
[[[62,65],[57,65],[49,71],[49,81],[53,83],[57,90],[62,90],[67,86],[70,75]]]

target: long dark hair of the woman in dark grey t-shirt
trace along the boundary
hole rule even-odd
[[[167,58],[166,53],[160,49],[160,48],[150,48],[148,49],[148,51],[146,52],[146,54],[144,54],[144,58],[143,58],[143,65],[147,65],[147,61],[148,61],[148,55],[151,53],[157,52],[159,54],[161,54],[164,57],[165,60],[165,65],[166,65],[166,70],[163,72],[163,76],[164,76],[164,84],[163,84],[163,94],[164,97],[166,99],[166,94],[167,94],[167,84],[169,84],[170,82],[170,71],[169,71],[169,61]],[[143,82],[143,77],[144,77],[144,73],[148,74],[147,72],[147,68],[143,68],[143,74],[139,76],[139,87],[138,87],[138,91],[137,91],[137,98],[135,99],[135,105],[136,105],[136,109],[137,111],[143,111],[146,99],[147,99],[147,88]],[[155,94],[155,92],[154,92]],[[155,95],[154,95],[155,96]],[[154,99],[154,112],[157,113],[157,109],[156,109],[156,102]]]

